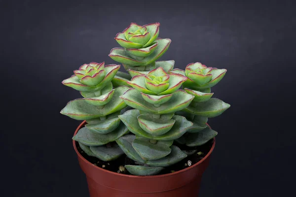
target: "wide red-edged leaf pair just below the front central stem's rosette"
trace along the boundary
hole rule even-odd
[[[166,102],[161,104],[159,107],[155,107],[153,104],[145,101],[139,91],[131,88],[120,98],[123,99],[127,105],[133,108],[154,114],[167,114],[184,109],[189,105],[194,97],[183,90],[178,90],[173,94],[170,102]]]

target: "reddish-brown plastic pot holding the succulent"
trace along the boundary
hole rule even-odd
[[[86,124],[83,121],[77,131]],[[198,163],[183,170],[154,176],[119,174],[100,168],[84,159],[73,146],[86,175],[90,197],[198,197],[201,177],[215,147]]]

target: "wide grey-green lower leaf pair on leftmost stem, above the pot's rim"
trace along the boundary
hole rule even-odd
[[[107,134],[94,133],[86,127],[83,127],[77,132],[76,135],[74,135],[72,139],[87,146],[101,146],[115,141],[128,132],[128,129],[122,123],[115,131]]]

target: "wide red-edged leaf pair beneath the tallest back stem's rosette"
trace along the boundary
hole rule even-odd
[[[151,53],[148,57],[144,58],[143,60],[134,60],[133,58],[130,58],[123,48],[113,48],[110,51],[109,56],[112,60],[126,64],[129,66],[147,66],[151,63],[155,62],[157,59],[159,59],[169,48],[169,45],[171,43],[171,39],[165,38],[159,38],[156,40],[157,47],[154,50],[153,53]],[[127,48],[127,47],[125,47]],[[131,47],[131,48],[140,48],[140,47]]]

